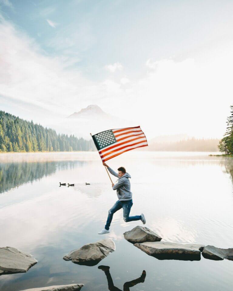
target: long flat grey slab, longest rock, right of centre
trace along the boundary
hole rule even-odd
[[[134,246],[160,260],[199,261],[204,246],[189,243],[145,242]]]

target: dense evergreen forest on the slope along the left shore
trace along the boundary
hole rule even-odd
[[[0,152],[95,150],[92,140],[58,134],[32,121],[0,111]]]

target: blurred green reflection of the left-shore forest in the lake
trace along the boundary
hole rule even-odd
[[[27,182],[52,175],[56,170],[73,169],[83,161],[0,163],[0,193]]]

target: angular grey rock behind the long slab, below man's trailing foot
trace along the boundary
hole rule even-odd
[[[162,238],[147,227],[136,226],[124,233],[125,239],[130,243],[159,242]]]

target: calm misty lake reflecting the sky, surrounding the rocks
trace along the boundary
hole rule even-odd
[[[208,153],[132,151],[108,164],[132,176],[132,215],[164,240],[233,247],[233,160]],[[116,178],[113,177],[113,181]],[[59,187],[59,182],[76,183]],[[90,185],[85,185],[88,182]],[[134,291],[230,291],[233,261],[158,260],[123,238],[142,225],[113,216],[111,232],[100,236],[116,191],[97,152],[0,154],[0,247],[31,253],[38,263],[27,273],[0,276],[1,291],[83,283],[83,291],[108,290],[99,265],[110,266],[114,285],[140,277]],[[116,251],[96,266],[62,259],[86,243],[111,238]]]

